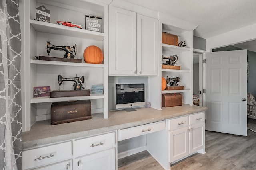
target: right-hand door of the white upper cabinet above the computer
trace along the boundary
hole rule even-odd
[[[158,73],[158,20],[137,15],[137,74]]]

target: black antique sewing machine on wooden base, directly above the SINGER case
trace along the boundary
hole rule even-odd
[[[60,86],[64,81],[72,81],[74,82],[73,90],[60,90]],[[56,97],[69,97],[69,96],[90,96],[90,90],[84,89],[84,76],[81,77],[71,77],[71,78],[64,78],[61,75],[58,75],[58,85],[59,90],[53,90],[50,92],[51,98]]]

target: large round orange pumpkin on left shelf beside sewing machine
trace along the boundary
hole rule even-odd
[[[84,50],[85,63],[101,64],[103,61],[103,53],[101,49],[95,45],[90,45]]]

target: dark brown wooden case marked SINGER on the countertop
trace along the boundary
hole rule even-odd
[[[91,118],[91,100],[52,103],[51,125],[87,120]]]

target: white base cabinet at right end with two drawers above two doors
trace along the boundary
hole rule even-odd
[[[204,112],[169,120],[169,146],[170,163],[205,149]]]

